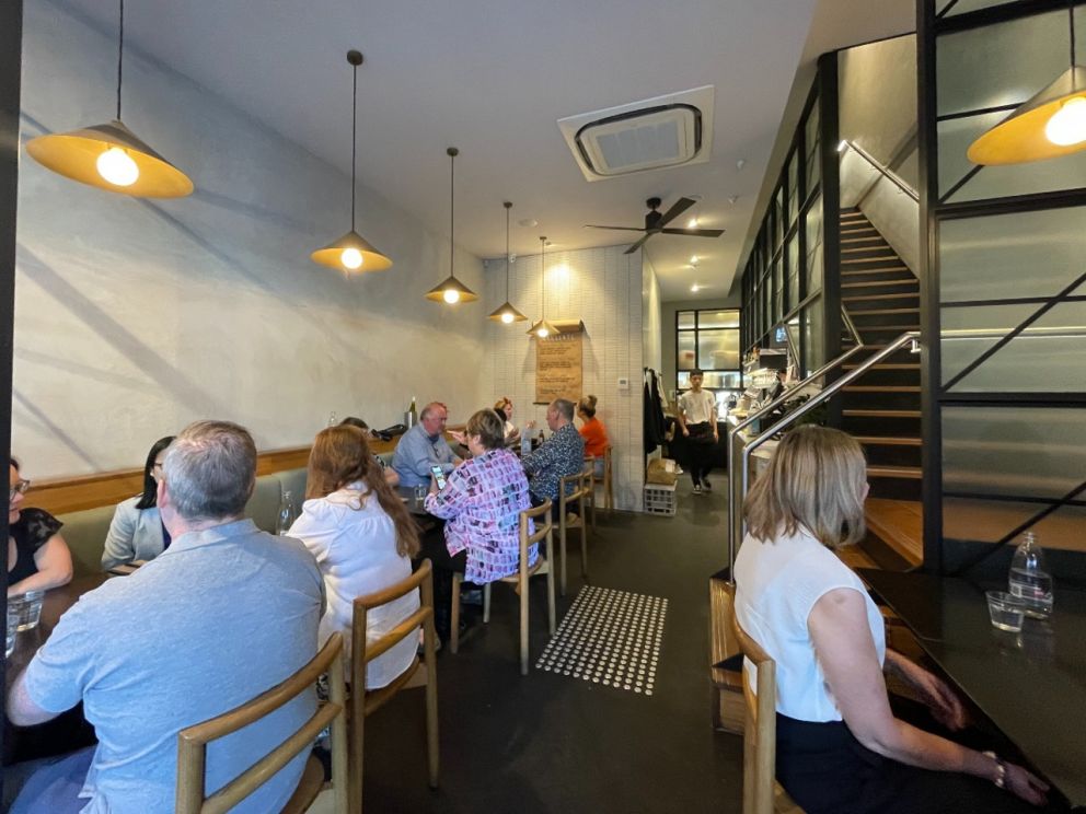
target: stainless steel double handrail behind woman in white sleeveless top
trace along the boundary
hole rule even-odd
[[[751,455],[751,453],[754,450],[756,450],[759,446],[761,446],[763,443],[765,443],[766,441],[769,441],[771,438],[773,438],[774,435],[776,435],[778,432],[781,432],[783,429],[785,429],[786,427],[789,427],[793,423],[795,423],[797,419],[802,418],[804,416],[806,416],[808,412],[810,412],[817,406],[819,406],[820,404],[823,404],[831,396],[833,396],[837,392],[840,392],[843,387],[846,387],[847,385],[850,385],[853,382],[855,382],[857,379],[859,379],[862,375],[864,375],[867,371],[869,371],[876,364],[878,364],[879,362],[881,362],[883,359],[887,359],[888,357],[892,356],[893,353],[896,353],[898,350],[900,350],[901,348],[903,348],[906,345],[911,346],[912,352],[916,353],[916,352],[920,351],[920,332],[919,330],[909,330],[909,332],[905,332],[904,334],[902,334],[901,336],[899,336],[897,339],[894,339],[892,342],[890,342],[889,345],[887,345],[886,348],[883,348],[882,350],[880,350],[878,353],[875,353],[874,356],[869,357],[863,363],[858,364],[856,368],[854,368],[853,370],[848,371],[843,376],[841,376],[841,379],[837,379],[834,382],[832,382],[830,385],[828,385],[827,387],[823,387],[822,391],[818,395],[811,396],[809,399],[807,399],[806,402],[804,402],[801,405],[799,405],[792,412],[789,412],[788,415],[782,417],[776,423],[774,423],[770,428],[763,430],[758,435],[755,435],[753,439],[751,439],[747,444],[743,445],[742,458],[740,461],[740,467],[739,467],[740,468],[740,473],[739,473],[740,477],[737,478],[736,477],[736,473],[732,472],[731,475],[730,475],[730,477],[728,478],[728,581],[729,582],[735,583],[735,581],[736,581],[736,578],[735,578],[736,548],[738,546],[739,538],[746,533],[746,527],[744,527],[746,526],[746,523],[743,522],[743,519],[742,519],[741,514],[739,516],[737,516],[737,513],[736,513],[736,503],[738,502],[739,505],[742,505],[743,500],[747,498],[747,489],[748,489],[748,486],[749,486],[748,480],[749,480],[749,468],[750,468],[750,455]],[[801,383],[801,385],[802,384],[806,384],[806,383],[809,383],[810,380],[814,379],[816,376],[823,375],[827,371],[832,370],[833,368],[837,367],[847,357],[850,357],[853,353],[855,353],[856,351],[858,351],[862,347],[864,347],[864,346],[857,346],[855,348],[852,348],[850,351],[847,351],[845,353],[842,353],[840,357],[837,357],[836,359],[834,359],[832,362],[830,362],[827,365],[823,365],[822,368],[820,368],[819,370],[817,370],[814,373],[812,373],[811,375],[809,375],[807,379],[805,379],[804,382]],[[784,404],[784,400],[785,400],[784,396],[785,395],[792,395],[792,394],[795,393],[795,391],[796,391],[796,388],[793,388],[792,391],[789,391],[788,394],[782,394],[781,397],[775,398],[773,402],[771,402],[764,408],[762,408],[756,414],[754,414],[754,416],[748,418],[742,423],[737,425],[735,427],[735,429],[731,432],[728,433],[728,466],[733,466],[735,465],[735,461],[732,458],[732,449],[733,449],[733,445],[735,445],[735,438],[739,433],[739,431],[741,429],[748,427],[754,419],[756,419],[760,416],[762,416],[765,412],[767,412],[771,408],[777,407],[777,406],[779,406],[779,404]],[[741,485],[741,489],[740,489],[740,492],[739,492],[739,495],[740,495],[740,500],[739,501],[736,500],[736,488],[735,488],[735,485],[736,484],[740,484]]]

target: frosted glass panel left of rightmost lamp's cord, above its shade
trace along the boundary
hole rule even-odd
[[[1067,70],[1070,44],[1066,11],[940,36],[939,115],[1021,104]]]

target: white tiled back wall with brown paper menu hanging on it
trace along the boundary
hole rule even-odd
[[[619,509],[639,511],[645,455],[642,433],[642,255],[625,246],[546,254],[546,317],[585,323],[584,391],[599,399],[597,416],[613,446],[614,497]],[[509,299],[529,323],[490,323],[485,339],[492,395],[508,396],[513,420],[545,427],[545,405],[535,397],[535,339],[527,336],[540,317],[540,255],[519,256],[510,269]],[[505,300],[504,258],[486,264],[486,311]],[[619,379],[628,382],[619,388]],[[486,372],[484,371],[484,381]]]

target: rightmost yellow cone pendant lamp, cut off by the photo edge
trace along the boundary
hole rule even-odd
[[[1021,164],[1086,148],[1086,68],[1075,62],[1075,7],[1068,2],[1071,67],[969,147],[974,164]]]

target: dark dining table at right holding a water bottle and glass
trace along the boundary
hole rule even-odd
[[[1086,592],[1056,585],[1052,616],[994,628],[992,585],[925,572],[856,571],[958,689],[1073,810],[1086,811]],[[1006,586],[1002,586],[1006,590]]]

